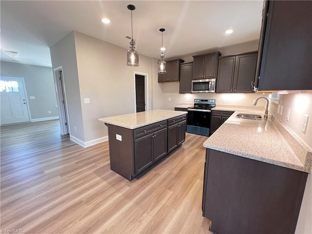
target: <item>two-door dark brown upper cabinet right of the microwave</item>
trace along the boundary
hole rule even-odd
[[[219,58],[217,93],[252,93],[257,52]]]

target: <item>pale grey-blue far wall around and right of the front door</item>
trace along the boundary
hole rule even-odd
[[[1,61],[1,76],[24,78],[31,118],[58,117],[53,70],[14,62]],[[29,99],[34,96],[35,99]],[[49,114],[51,111],[51,114]]]

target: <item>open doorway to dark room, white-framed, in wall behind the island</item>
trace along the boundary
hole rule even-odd
[[[136,112],[148,110],[148,79],[147,74],[135,72]]]

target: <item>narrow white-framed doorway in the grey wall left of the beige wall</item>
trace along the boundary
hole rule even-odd
[[[59,106],[59,123],[60,123],[60,134],[69,134],[69,123],[68,123],[68,111],[67,111],[67,101],[63,78],[63,68],[58,67],[54,70],[54,83],[55,90],[57,94],[57,101]]]

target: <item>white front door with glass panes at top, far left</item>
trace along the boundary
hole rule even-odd
[[[1,125],[29,122],[22,78],[0,78]]]

